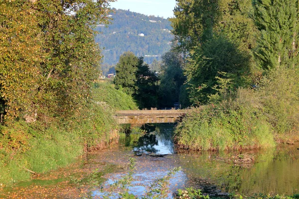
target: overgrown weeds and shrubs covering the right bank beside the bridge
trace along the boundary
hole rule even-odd
[[[256,89],[238,89],[218,103],[191,109],[176,126],[176,146],[229,150],[298,142],[298,78],[298,70],[278,69]]]

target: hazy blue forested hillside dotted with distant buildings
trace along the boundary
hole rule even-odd
[[[103,63],[115,65],[126,51],[138,57],[143,56],[148,64],[159,60],[167,52],[173,39],[170,21],[162,17],[147,16],[130,10],[113,9],[112,24],[99,24],[96,30],[102,32],[95,38],[104,48]]]

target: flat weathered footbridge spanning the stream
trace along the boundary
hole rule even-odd
[[[186,110],[120,110],[116,118],[120,124],[173,123]]]

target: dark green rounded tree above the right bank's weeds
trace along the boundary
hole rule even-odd
[[[189,98],[194,105],[207,103],[210,95],[223,93],[217,87],[234,91],[245,86],[249,72],[248,54],[224,37],[214,37],[198,48],[186,65]]]

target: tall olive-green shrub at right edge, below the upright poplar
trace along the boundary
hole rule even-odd
[[[278,141],[299,140],[299,72],[277,69],[261,81],[259,95]]]

